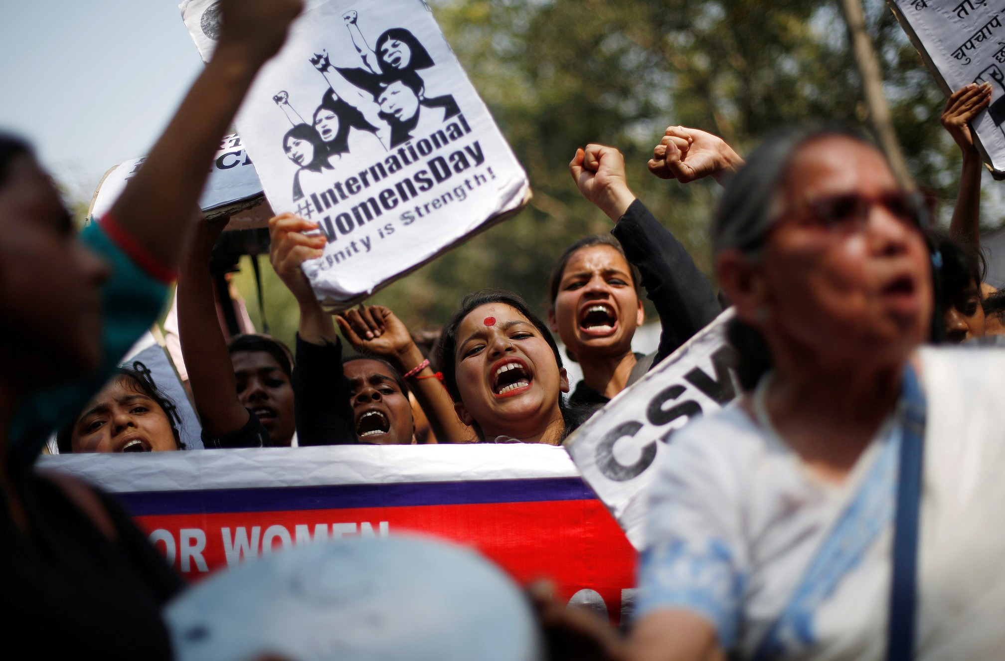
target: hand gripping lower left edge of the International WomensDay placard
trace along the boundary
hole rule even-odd
[[[304,220],[291,213],[279,214],[268,221],[268,259],[275,274],[301,307],[318,304],[311,282],[300,268],[308,259],[317,259],[325,254],[325,245],[328,243],[325,235],[308,235],[308,232],[318,228],[318,223]]]

